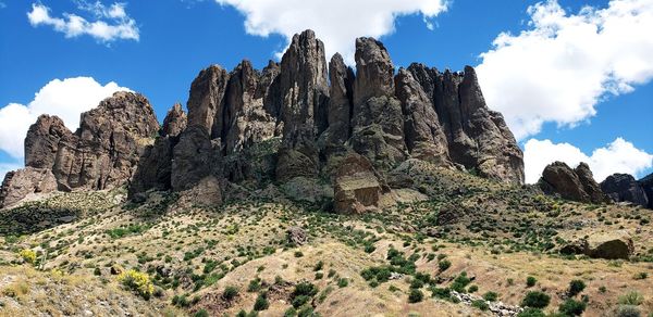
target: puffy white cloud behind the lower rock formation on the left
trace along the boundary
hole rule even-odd
[[[0,150],[13,157],[24,155],[24,139],[29,126],[41,114],[57,115],[75,130],[79,115],[119,90],[130,90],[111,81],[98,84],[91,77],[54,79],[44,86],[27,105],[10,103],[0,109]],[[2,163],[0,163],[2,164]]]

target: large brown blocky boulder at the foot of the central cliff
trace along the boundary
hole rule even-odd
[[[353,153],[341,162],[334,181],[334,207],[337,213],[373,211],[379,205],[381,191],[374,167],[365,156]]]

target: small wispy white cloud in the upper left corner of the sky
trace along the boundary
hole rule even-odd
[[[64,13],[63,17],[54,17],[50,15],[50,8],[40,3],[32,4],[32,11],[27,13],[27,18],[34,27],[48,25],[54,30],[63,33],[67,38],[89,35],[106,43],[118,39],[136,41],[139,39],[136,21],[126,14],[124,3],[104,7],[99,1],[93,3],[77,1],[77,8],[93,14],[96,21],[89,22],[73,13]]]

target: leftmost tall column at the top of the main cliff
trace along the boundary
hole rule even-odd
[[[221,136],[227,83],[229,73],[221,66],[211,65],[199,72],[190,84],[188,126],[202,127],[211,139]]]

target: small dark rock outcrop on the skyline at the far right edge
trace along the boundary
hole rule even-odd
[[[628,174],[613,174],[601,182],[601,190],[615,202],[631,202],[646,207],[649,198],[641,183]]]

